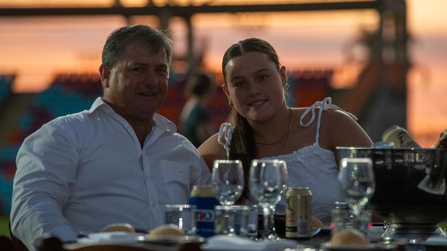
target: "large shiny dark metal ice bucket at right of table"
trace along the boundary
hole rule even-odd
[[[340,160],[371,158],[375,192],[370,206],[390,223],[394,237],[444,235],[437,224],[447,219],[447,149],[337,150]]]

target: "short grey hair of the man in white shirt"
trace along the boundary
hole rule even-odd
[[[146,43],[155,53],[164,49],[168,65],[171,65],[173,42],[170,36],[168,29],[160,31],[148,25],[128,25],[115,29],[107,37],[102,49],[102,64],[112,68],[120,60],[127,45]]]

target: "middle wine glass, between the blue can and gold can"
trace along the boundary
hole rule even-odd
[[[279,240],[274,228],[274,207],[287,190],[287,167],[283,160],[252,160],[250,193],[263,207],[264,241]]]

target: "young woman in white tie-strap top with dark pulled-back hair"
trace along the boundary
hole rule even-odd
[[[235,126],[223,123],[219,134],[199,147],[208,167],[215,159],[240,159],[247,179],[252,159],[285,160],[288,186],[309,187],[313,214],[328,226],[334,202],[343,200],[336,147],[369,147],[369,136],[353,115],[331,105],[330,98],[309,108],[288,107],[285,67],[265,40],[248,38],[232,45],[223,55],[222,72]],[[254,203],[247,185],[242,197]],[[285,212],[284,199],[276,211]]]

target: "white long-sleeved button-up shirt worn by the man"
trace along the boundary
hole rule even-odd
[[[46,123],[17,154],[12,233],[34,250],[45,232],[73,241],[112,223],[163,224],[164,204],[188,204],[193,185],[210,181],[204,160],[176,130],[155,114],[141,147],[100,97],[90,110]]]

